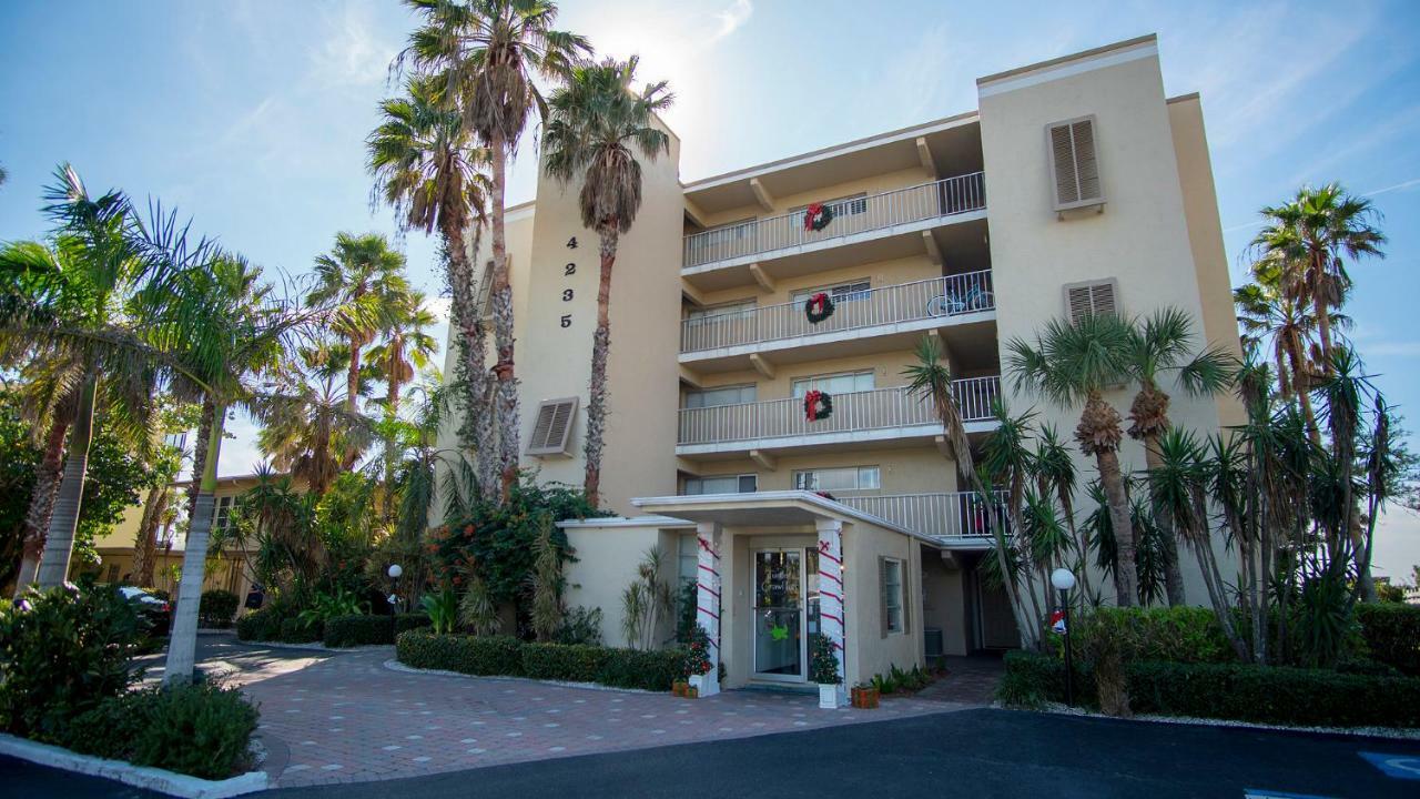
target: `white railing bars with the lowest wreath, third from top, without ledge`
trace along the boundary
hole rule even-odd
[[[991,417],[1001,380],[957,380],[951,388],[963,421],[984,421]],[[804,415],[801,398],[682,408],[676,444],[723,444],[937,424],[932,402],[913,397],[905,388],[834,394],[832,400],[834,412],[812,422]]]

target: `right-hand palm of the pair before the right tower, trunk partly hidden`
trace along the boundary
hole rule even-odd
[[[1160,309],[1130,326],[1127,370],[1139,384],[1129,407],[1129,438],[1145,445],[1145,462],[1152,475],[1162,466],[1159,436],[1169,429],[1169,394],[1159,387],[1167,372],[1193,397],[1217,394],[1228,387],[1233,358],[1216,348],[1194,353],[1193,318],[1180,309]],[[1169,606],[1186,604],[1179,542],[1164,505],[1154,503],[1154,523],[1163,554],[1164,593]]]

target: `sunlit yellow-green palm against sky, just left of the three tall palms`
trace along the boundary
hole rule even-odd
[[[349,347],[345,412],[355,414],[361,351],[398,314],[402,297],[409,293],[405,256],[389,249],[389,242],[378,233],[337,233],[335,247],[315,259],[315,279],[305,301],[311,307],[334,304],[341,310],[331,330]]]

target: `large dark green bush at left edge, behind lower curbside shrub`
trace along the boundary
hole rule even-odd
[[[60,742],[68,724],[141,677],[145,624],[114,586],[70,584],[0,610],[0,728]]]

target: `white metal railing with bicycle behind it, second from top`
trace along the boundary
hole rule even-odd
[[[680,351],[699,353],[993,309],[991,270],[983,269],[842,293],[834,297],[834,316],[818,324],[805,316],[804,300],[686,318],[680,323]]]

